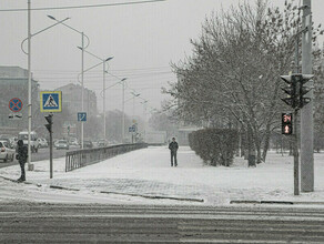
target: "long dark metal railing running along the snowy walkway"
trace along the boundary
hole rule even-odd
[[[107,148],[83,149],[67,152],[65,154],[65,172],[73,171],[90,164],[99,163],[115,155],[148,148],[145,143],[120,144]]]

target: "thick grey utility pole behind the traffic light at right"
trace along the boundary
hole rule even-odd
[[[312,11],[311,0],[303,0],[302,24],[302,73],[312,74]],[[313,81],[308,82],[313,87]],[[313,145],[313,99],[314,92],[308,92],[311,101],[301,110],[301,190],[314,191],[314,145]]]

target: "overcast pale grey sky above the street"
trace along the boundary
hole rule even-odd
[[[31,0],[32,8],[65,7],[101,3],[121,3],[140,0]],[[47,14],[57,19],[71,18],[65,23],[83,31],[90,38],[88,51],[108,58],[110,72],[128,78],[128,87],[141,93],[151,108],[160,108],[166,99],[161,94],[161,87],[174,81],[170,62],[178,62],[185,54],[191,54],[190,39],[199,37],[201,23],[213,10],[240,0],[166,0],[164,2],[130,4],[103,8],[42,10],[32,11],[32,33],[52,24]],[[271,0],[272,4],[283,7],[284,0]],[[295,2],[300,2],[296,0]],[[302,2],[302,0],[301,0]],[[324,22],[323,0],[313,0],[313,18],[316,23]],[[27,8],[27,0],[1,0],[0,10]],[[0,65],[27,68],[27,55],[20,49],[27,37],[27,11],[0,12]],[[57,26],[32,38],[32,72],[40,81],[41,89],[53,89],[70,82],[77,83],[81,71],[81,35]],[[92,67],[99,60],[85,54],[84,68]],[[107,85],[118,80],[107,78]],[[102,67],[84,74],[84,87],[98,94],[98,108],[102,100]],[[117,85],[107,92],[107,108],[121,109],[121,87]],[[126,91],[126,98],[131,98]],[[142,113],[136,102],[135,113]],[[125,104],[131,114],[132,102]]]

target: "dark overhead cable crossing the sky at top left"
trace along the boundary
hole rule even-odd
[[[146,1],[138,1],[138,2],[117,2],[117,3],[90,4],[90,6],[47,7],[47,8],[34,8],[31,10],[88,9],[88,8],[102,8],[102,7],[114,7],[114,6],[143,4],[143,3],[161,2],[161,1],[166,1],[166,0],[146,0]],[[0,9],[0,12],[19,12],[19,11],[28,11],[28,9]]]

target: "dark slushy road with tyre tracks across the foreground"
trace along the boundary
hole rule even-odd
[[[324,209],[0,205],[1,243],[323,243]]]

